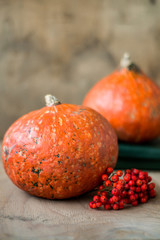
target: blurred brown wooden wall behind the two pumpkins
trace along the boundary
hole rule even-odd
[[[47,93],[81,104],[125,51],[160,85],[159,0],[0,0],[0,138]]]

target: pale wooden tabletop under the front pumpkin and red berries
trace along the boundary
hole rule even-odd
[[[70,200],[33,197],[13,185],[0,161],[1,240],[160,239],[160,172],[150,172],[158,195],[121,211],[93,210],[86,194]]]

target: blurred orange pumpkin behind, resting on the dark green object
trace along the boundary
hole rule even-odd
[[[160,88],[127,54],[118,70],[88,92],[83,105],[108,119],[120,140],[143,142],[160,136]]]

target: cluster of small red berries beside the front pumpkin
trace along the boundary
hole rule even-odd
[[[146,203],[149,198],[156,196],[155,183],[151,181],[148,173],[142,170],[133,168],[114,173],[113,168],[108,167],[89,206],[118,210],[128,204],[137,206],[139,203]]]

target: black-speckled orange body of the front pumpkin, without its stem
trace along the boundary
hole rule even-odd
[[[90,191],[115,167],[117,136],[107,120],[82,106],[44,107],[18,119],[2,146],[7,175],[22,190],[48,199]]]

